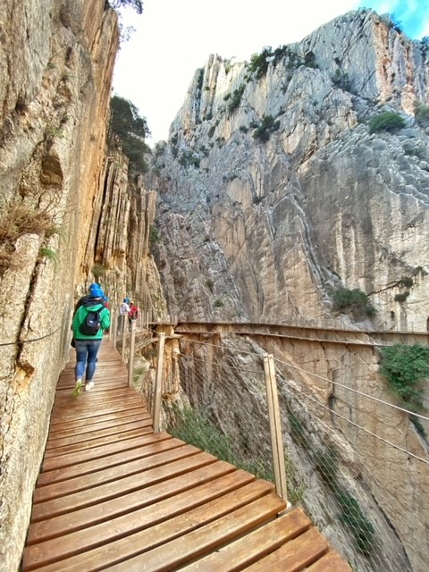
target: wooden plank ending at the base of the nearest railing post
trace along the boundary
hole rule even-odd
[[[286,502],[271,492],[262,499],[248,503],[209,525],[200,526],[169,543],[164,543],[151,551],[139,554],[139,556],[107,569],[116,572],[124,572],[125,570],[127,572],[175,570],[189,559],[198,558],[208,551],[214,551],[218,546],[230,541],[231,538],[237,538],[248,530],[260,526],[275,517],[285,507]]]

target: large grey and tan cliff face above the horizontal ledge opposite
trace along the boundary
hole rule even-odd
[[[172,313],[317,319],[343,286],[378,326],[425,330],[428,54],[359,11],[253,66],[210,57],[151,181]],[[405,128],[370,133],[389,110]]]

